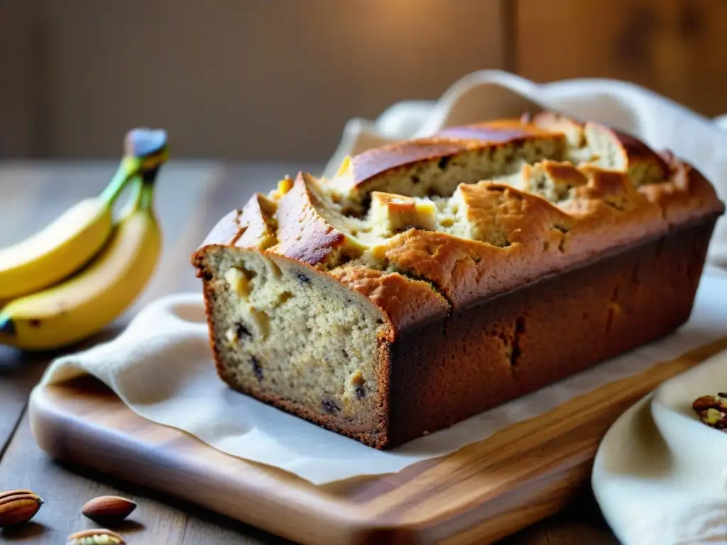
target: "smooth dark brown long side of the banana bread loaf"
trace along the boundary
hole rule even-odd
[[[687,320],[712,222],[407,331],[392,350],[390,446],[653,342]]]

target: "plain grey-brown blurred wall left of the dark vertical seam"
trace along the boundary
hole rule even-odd
[[[113,156],[153,124],[177,156],[322,161],[349,118],[502,68],[500,4],[3,0],[0,157]]]

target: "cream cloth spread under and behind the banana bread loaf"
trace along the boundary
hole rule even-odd
[[[395,105],[376,122],[351,121],[329,163],[371,145],[431,134],[443,126],[519,116],[538,104],[631,129],[693,161],[712,179],[727,174],[727,132],[650,92],[614,81],[570,81],[540,86],[500,72],[463,78],[435,103]],[[271,180],[271,183],[274,181]],[[200,239],[206,233],[200,233]],[[717,245],[715,262],[727,251]],[[661,342],[635,350],[539,392],[486,411],[449,429],[380,452],[233,392],[217,378],[199,294],[159,299],[112,342],[55,360],[41,382],[91,374],[145,419],[176,427],[214,448],[279,467],[312,483],[398,472],[443,456],[510,424],[549,411],[585,392],[640,373],[656,362],[723,334],[727,278],[704,278],[691,320]]]

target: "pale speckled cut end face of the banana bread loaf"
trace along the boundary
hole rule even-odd
[[[196,265],[217,369],[230,387],[385,446],[390,324],[369,299],[258,250],[206,246]]]

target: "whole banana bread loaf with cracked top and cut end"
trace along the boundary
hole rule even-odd
[[[193,263],[230,387],[393,448],[674,331],[723,211],[671,153],[543,112],[283,179]]]

